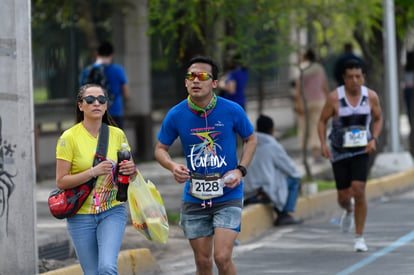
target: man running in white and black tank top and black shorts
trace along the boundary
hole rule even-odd
[[[329,159],[335,177],[338,204],[344,209],[343,232],[349,232],[355,221],[354,251],[365,252],[363,237],[368,212],[365,188],[369,154],[377,150],[383,118],[378,95],[364,86],[365,75],[357,60],[344,65],[344,86],[332,91],[326,100],[318,123],[322,156]],[[328,121],[332,127],[327,141]]]

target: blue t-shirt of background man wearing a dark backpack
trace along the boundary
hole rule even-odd
[[[104,64],[93,64],[93,66],[104,66]],[[89,67],[82,71],[80,84],[88,75]],[[111,99],[112,103],[108,108],[108,112],[111,116],[122,116],[124,114],[124,103],[122,95],[122,86],[128,82],[125,70],[122,66],[117,64],[109,64],[105,68],[105,76],[111,86]]]

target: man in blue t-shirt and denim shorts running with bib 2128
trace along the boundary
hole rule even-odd
[[[207,57],[195,57],[187,67],[188,98],[166,115],[158,134],[155,158],[185,183],[180,226],[194,252],[197,274],[236,274],[232,261],[240,232],[243,181],[257,138],[244,110],[218,97],[218,67]],[[237,135],[243,141],[237,160]],[[187,164],[175,162],[168,149],[180,138]],[[213,253],[214,249],[214,253]]]

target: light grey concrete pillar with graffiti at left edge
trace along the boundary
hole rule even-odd
[[[0,8],[0,274],[37,274],[29,0]]]

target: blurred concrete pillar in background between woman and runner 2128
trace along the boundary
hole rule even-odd
[[[135,133],[134,159],[152,160],[153,121],[150,75],[150,39],[148,29],[148,0],[132,1],[134,8],[124,18],[124,64],[128,73],[130,98],[126,114]]]

